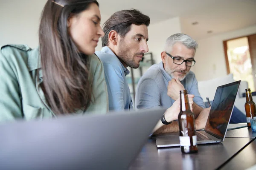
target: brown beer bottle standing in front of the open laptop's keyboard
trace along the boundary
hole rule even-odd
[[[190,111],[189,98],[186,90],[180,91],[180,148],[182,153],[197,153],[197,137],[195,135],[195,115]]]

